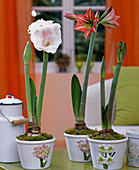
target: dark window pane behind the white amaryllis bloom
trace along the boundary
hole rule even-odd
[[[54,23],[62,24],[61,21],[61,12],[37,12],[37,16],[34,17],[34,21],[38,19],[44,19],[44,20],[53,20]],[[61,25],[62,27],[62,25]],[[59,46],[59,50],[62,48],[62,46]],[[43,61],[43,52],[37,51],[35,49],[35,61]],[[49,53],[49,61],[55,61],[55,55]]]

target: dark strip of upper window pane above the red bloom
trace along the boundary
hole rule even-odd
[[[75,0],[77,6],[105,5],[105,0]]]

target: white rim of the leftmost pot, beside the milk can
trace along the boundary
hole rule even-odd
[[[21,143],[21,144],[26,144],[26,145],[32,145],[32,144],[46,144],[46,143],[52,143],[55,141],[55,137],[53,136],[53,139],[48,139],[48,140],[42,140],[42,141],[24,141],[24,140],[18,140],[16,138],[16,142],[17,143]]]

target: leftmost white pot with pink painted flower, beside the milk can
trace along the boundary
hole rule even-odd
[[[44,169],[51,163],[55,138],[44,141],[16,139],[21,166],[25,169]]]

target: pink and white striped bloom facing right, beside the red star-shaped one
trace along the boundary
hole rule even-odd
[[[115,15],[115,11],[110,6],[100,17],[99,23],[103,24],[106,28],[112,29],[119,26],[118,22],[116,21],[120,16]]]

